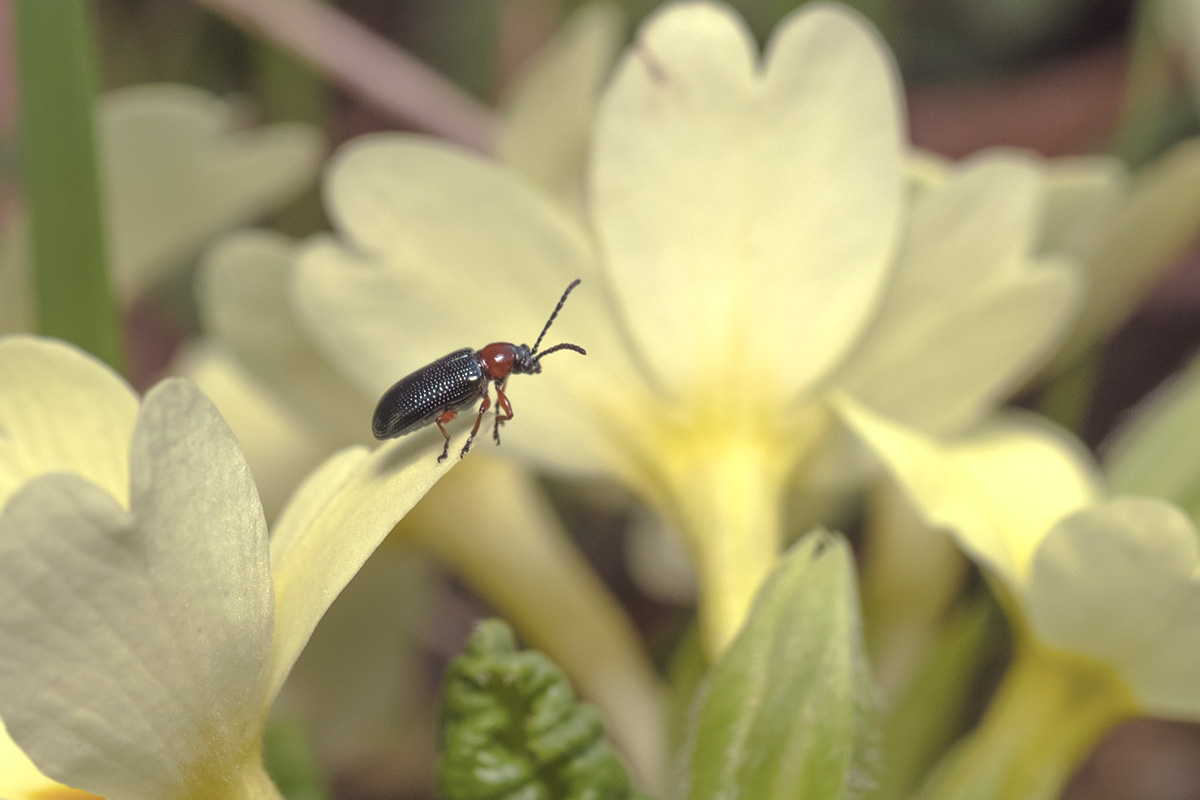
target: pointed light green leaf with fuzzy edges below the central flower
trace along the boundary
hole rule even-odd
[[[852,794],[871,691],[859,616],[845,540],[802,539],[697,698],[680,796]]]

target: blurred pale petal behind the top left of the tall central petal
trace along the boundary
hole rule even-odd
[[[592,121],[624,26],[612,2],[581,7],[534,54],[504,103],[500,161],[564,203],[583,200]]]

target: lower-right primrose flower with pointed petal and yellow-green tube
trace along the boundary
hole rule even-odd
[[[1082,449],[1032,419],[937,440],[847,398],[842,417],[990,578],[1013,664],[923,798],[1054,798],[1117,722],[1200,721],[1200,533],[1159,499],[1104,499]]]

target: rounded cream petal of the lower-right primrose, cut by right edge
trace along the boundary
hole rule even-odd
[[[1200,539],[1178,507],[1130,497],[1080,511],[1028,581],[1039,638],[1116,668],[1148,714],[1200,718]]]

